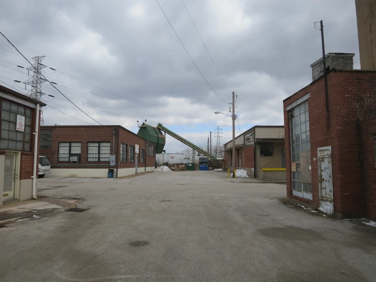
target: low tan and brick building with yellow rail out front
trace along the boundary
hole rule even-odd
[[[284,180],[284,127],[256,125],[235,138],[236,167],[261,180]],[[224,162],[232,166],[233,140],[224,144]]]

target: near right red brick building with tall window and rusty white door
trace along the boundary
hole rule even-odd
[[[376,114],[366,102],[376,101],[376,71],[328,71],[327,96],[320,76],[283,101],[287,196],[338,218],[375,219],[376,131],[374,119],[359,121]]]

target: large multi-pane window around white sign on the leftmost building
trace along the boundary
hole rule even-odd
[[[32,110],[2,100],[2,131],[0,149],[31,151]],[[17,116],[25,120],[24,130],[16,130]]]

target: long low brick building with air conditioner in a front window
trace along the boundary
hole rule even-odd
[[[138,152],[137,152],[138,151]],[[42,126],[47,177],[123,177],[155,169],[155,147],[120,125]]]

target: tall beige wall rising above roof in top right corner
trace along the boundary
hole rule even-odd
[[[360,66],[362,70],[376,69],[376,1],[355,0]]]

